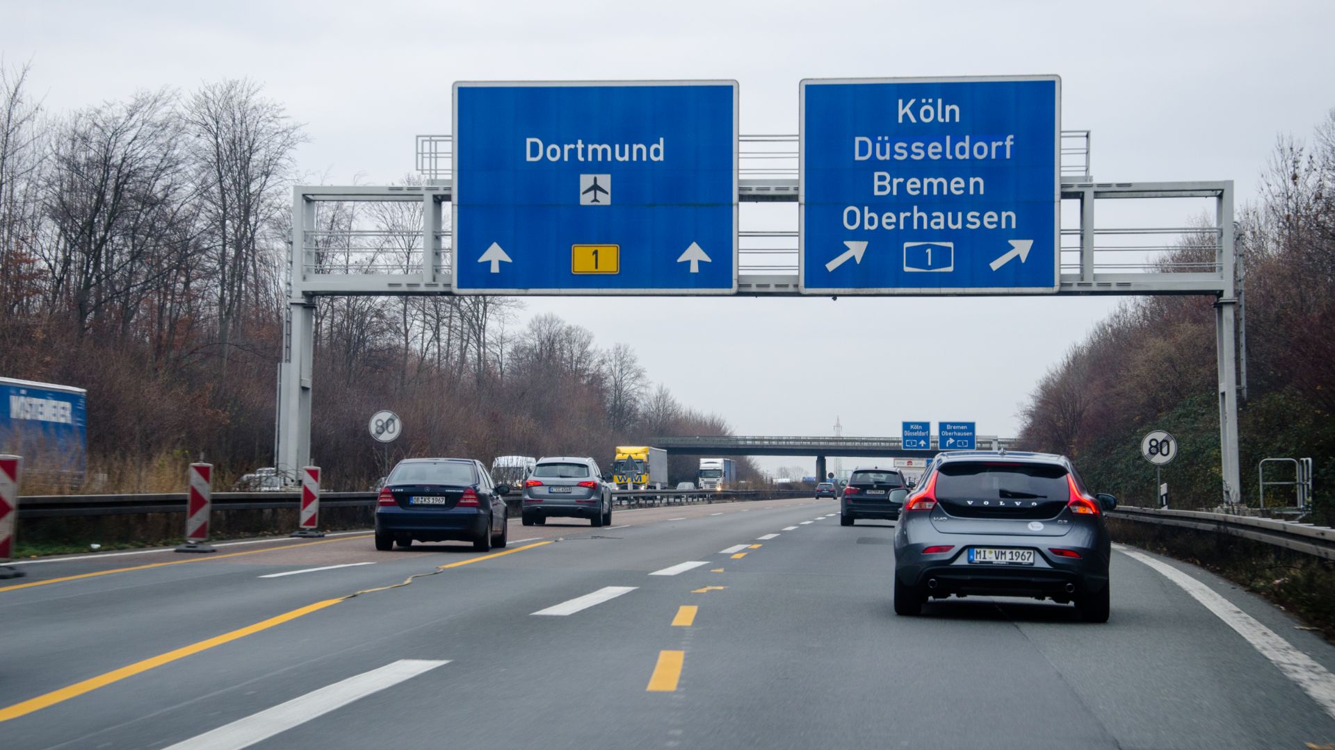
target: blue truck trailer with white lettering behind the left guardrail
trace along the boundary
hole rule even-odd
[[[23,456],[24,471],[79,484],[88,468],[88,391],[0,378],[0,454]]]

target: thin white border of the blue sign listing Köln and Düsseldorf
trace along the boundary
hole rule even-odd
[[[837,84],[898,84],[898,83],[989,83],[989,81],[1053,81],[1056,85],[1056,123],[1055,137],[1052,139],[1052,200],[1056,203],[1052,226],[1052,286],[1051,287],[880,287],[880,288],[833,288],[806,286],[806,87],[810,85],[837,85]],[[458,123],[457,123],[458,124]],[[459,132],[455,128],[454,132]],[[902,243],[898,243],[902,246]],[[900,252],[896,248],[894,252]],[[999,248],[1000,251],[1000,248]],[[905,295],[905,296],[947,296],[947,295],[1033,295],[1056,294],[1061,287],[1061,76],[928,76],[928,77],[889,77],[889,79],[802,79],[797,84],[797,291],[804,295]]]

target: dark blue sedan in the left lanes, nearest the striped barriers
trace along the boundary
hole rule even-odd
[[[410,458],[394,467],[375,506],[375,548],[395,543],[463,540],[487,551],[505,547],[506,484],[466,458]]]

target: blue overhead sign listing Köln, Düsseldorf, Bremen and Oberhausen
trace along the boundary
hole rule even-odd
[[[802,292],[1057,290],[1057,76],[804,80],[800,140]]]

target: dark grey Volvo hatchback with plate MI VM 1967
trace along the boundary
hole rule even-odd
[[[940,454],[894,532],[894,611],[951,595],[1028,597],[1107,622],[1104,512],[1116,506],[1089,495],[1061,455]]]

